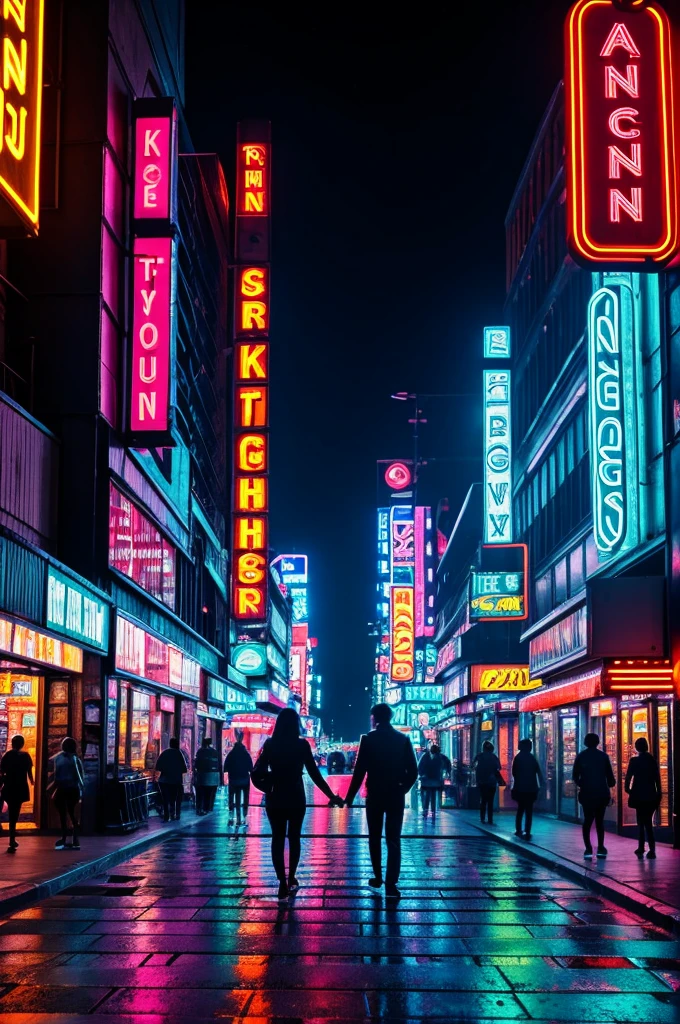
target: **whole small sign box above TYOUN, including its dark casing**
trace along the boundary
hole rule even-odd
[[[172,98],[135,100],[132,215],[138,221],[159,222],[164,229],[175,214],[176,139]]]

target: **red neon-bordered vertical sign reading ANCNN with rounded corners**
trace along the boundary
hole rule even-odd
[[[565,57],[571,255],[663,266],[678,251],[668,17],[655,4],[579,0]]]

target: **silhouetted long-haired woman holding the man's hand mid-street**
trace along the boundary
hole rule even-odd
[[[342,798],[333,793],[318,770],[309,743],[300,735],[300,716],[293,708],[284,708],[279,712],[273,733],[264,741],[252,774],[253,784],[265,794],[266,815],[271,825],[271,862],[279,880],[281,901],[300,888],[296,872],[300,863],[302,822],[307,810],[302,781],[305,768],[316,788],[332,805],[342,807]]]

